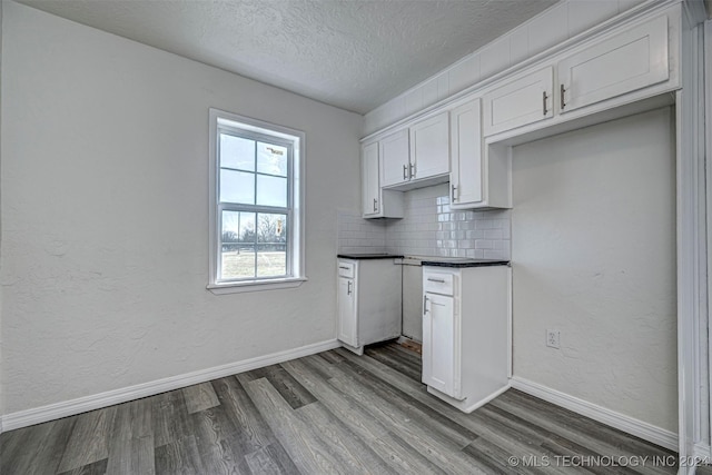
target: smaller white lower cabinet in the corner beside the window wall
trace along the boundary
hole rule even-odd
[[[394,259],[338,259],[338,339],[364,346],[400,336],[400,265]]]

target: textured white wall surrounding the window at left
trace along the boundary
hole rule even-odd
[[[335,338],[360,116],[2,8],[6,414]],[[301,287],[205,289],[209,107],[306,132]]]

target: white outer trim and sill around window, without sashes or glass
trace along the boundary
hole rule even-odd
[[[219,253],[218,253],[218,123],[225,122],[239,122],[240,128],[269,133],[285,139],[297,139],[298,145],[294,147],[293,159],[293,177],[291,177],[291,209],[293,220],[291,235],[288,248],[291,249],[291,273],[290,277],[283,278],[265,278],[265,279],[251,279],[229,283],[218,283],[217,269]],[[298,287],[307,279],[305,274],[306,264],[306,240],[305,240],[305,142],[306,136],[300,130],[290,129],[288,127],[276,126],[274,123],[265,122],[261,120],[253,119],[249,117],[238,116],[236,113],[226,112],[224,110],[210,108],[210,127],[209,127],[209,174],[208,174],[208,237],[209,237],[209,281],[206,288],[216,295],[235,294],[243,291],[257,291],[257,290],[271,290],[279,288]]]

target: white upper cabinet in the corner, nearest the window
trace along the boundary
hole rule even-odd
[[[362,148],[362,214],[364,218],[403,218],[403,194],[380,187],[378,142]]]

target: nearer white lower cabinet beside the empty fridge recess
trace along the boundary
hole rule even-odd
[[[423,383],[469,413],[508,387],[508,266],[423,268]]]

